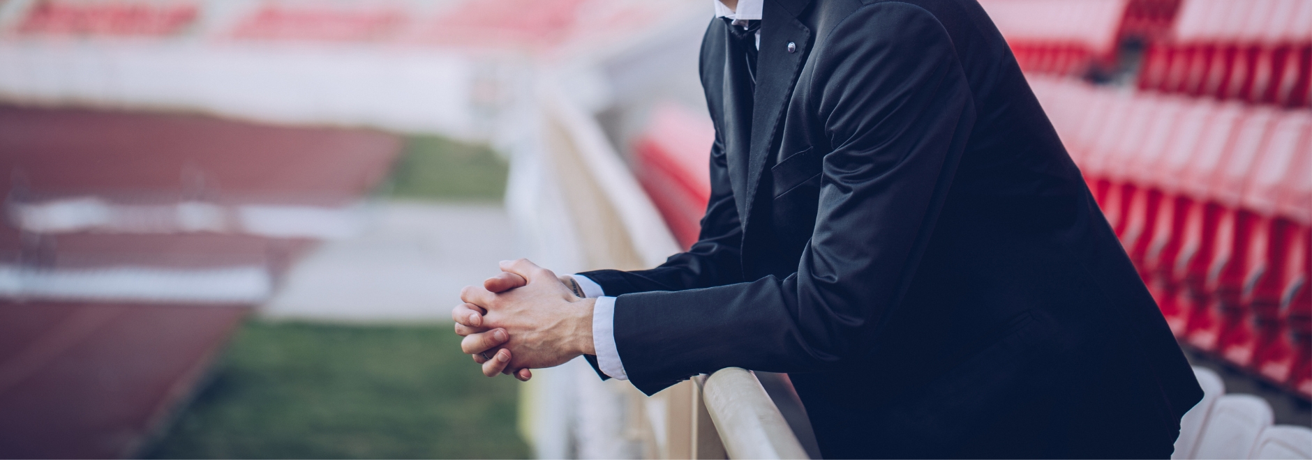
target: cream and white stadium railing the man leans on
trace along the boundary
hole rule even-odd
[[[554,176],[548,189],[512,190],[512,214],[560,208],[565,240],[579,248],[573,266],[639,269],[661,263],[678,244],[639,181],[605,138],[597,121],[559,88],[538,90],[537,169]],[[708,147],[708,145],[707,145]],[[516,166],[512,166],[514,169]],[[534,182],[516,178],[512,181]],[[538,183],[542,186],[542,183]],[[512,186],[512,189],[516,185]],[[555,197],[555,198],[551,198]],[[548,203],[550,201],[550,203]],[[518,210],[518,211],[517,211]],[[552,232],[547,220],[535,232]],[[559,221],[558,221],[559,223]],[[531,223],[530,223],[531,224]],[[589,371],[590,372],[590,371]],[[594,376],[593,376],[594,379]],[[538,379],[534,379],[538,380]],[[724,368],[680,383],[648,398],[631,385],[623,392],[639,417],[625,417],[623,431],[640,431],[646,457],[806,459],[800,442],[750,371]]]

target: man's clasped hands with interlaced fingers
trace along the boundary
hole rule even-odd
[[[529,380],[530,368],[564,364],[596,354],[592,307],[551,270],[529,259],[502,261],[501,273],[483,286],[466,286],[451,311],[461,350],[483,364],[483,375],[513,374]]]

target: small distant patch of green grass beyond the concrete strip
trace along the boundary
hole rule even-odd
[[[488,147],[411,136],[383,189],[394,198],[500,201],[508,170],[505,160]]]

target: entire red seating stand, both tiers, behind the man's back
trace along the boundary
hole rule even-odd
[[[1312,1],[981,3],[1177,337],[1312,398]]]

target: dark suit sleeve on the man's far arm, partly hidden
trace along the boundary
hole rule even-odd
[[[707,35],[716,25],[718,21],[711,21]],[[722,85],[720,81],[714,80],[722,77],[722,72],[707,72],[705,66],[723,60],[723,50],[715,46],[715,41],[705,39],[701,63],[705,88]],[[711,97],[719,97],[718,94],[718,92],[708,90],[708,102]],[[711,118],[722,119],[715,113],[718,105],[708,104],[708,106]],[[682,291],[743,282],[743,262],[739,257],[743,229],[739,224],[733,190],[729,186],[728,163],[720,132],[722,127],[716,126],[710,157],[711,195],[706,204],[706,214],[702,216],[702,231],[698,235],[698,241],[687,252],[674,254],[665,263],[651,270],[583,273],[600,284],[607,296],[646,291]]]

